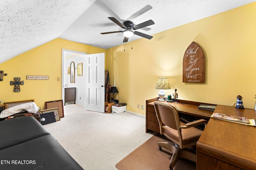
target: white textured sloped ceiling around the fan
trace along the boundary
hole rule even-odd
[[[0,0],[0,63],[58,37],[104,49],[120,45],[122,33],[100,34],[124,30],[108,17],[123,22],[135,14],[134,24],[151,19],[155,24],[149,31],[137,31],[153,35],[251,2],[255,0]],[[133,35],[129,41],[139,38]]]

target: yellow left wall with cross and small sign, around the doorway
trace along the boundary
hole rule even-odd
[[[62,49],[88,54],[106,53],[105,49],[59,38],[22,53],[0,64],[0,70],[8,74],[0,82],[0,100],[12,102],[34,99],[41,109],[46,101],[61,100]],[[26,80],[26,75],[49,76],[49,80]],[[14,86],[10,86],[14,77],[24,81],[20,92],[13,92]],[[60,81],[57,81],[58,77]]]

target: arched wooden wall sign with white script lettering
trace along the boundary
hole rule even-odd
[[[194,41],[188,46],[183,57],[183,82],[204,83],[204,51]]]

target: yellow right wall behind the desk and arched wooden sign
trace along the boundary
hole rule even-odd
[[[167,77],[172,89],[165,90],[166,97],[176,88],[178,99],[231,106],[241,95],[244,107],[254,108],[255,18],[256,2],[108,49],[106,69],[119,91],[116,99],[145,115],[137,104],[158,97],[156,82]],[[206,58],[203,84],[182,82],[183,56],[193,41]]]

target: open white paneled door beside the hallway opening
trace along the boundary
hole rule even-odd
[[[104,113],[105,53],[86,55],[86,109]]]

